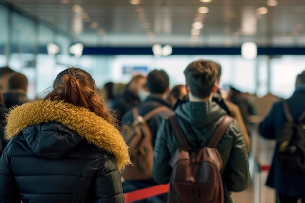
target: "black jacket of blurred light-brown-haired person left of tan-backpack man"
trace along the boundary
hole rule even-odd
[[[134,93],[127,88],[122,95],[114,99],[111,109],[117,111],[117,119],[122,121],[123,116],[127,111],[131,110],[133,107],[139,106],[140,104],[140,98],[134,95]]]

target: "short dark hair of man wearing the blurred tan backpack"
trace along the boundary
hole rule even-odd
[[[147,88],[150,93],[163,94],[169,85],[169,75],[163,70],[153,70],[147,75]]]

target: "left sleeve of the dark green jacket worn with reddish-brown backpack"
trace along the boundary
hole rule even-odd
[[[169,165],[171,154],[167,147],[167,137],[169,137],[169,123],[164,119],[157,133],[157,138],[153,153],[152,178],[160,183],[167,184],[170,181],[172,168]]]

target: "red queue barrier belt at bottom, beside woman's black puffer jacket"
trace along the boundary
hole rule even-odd
[[[127,192],[124,194],[125,203],[130,203],[137,200],[146,199],[156,195],[161,195],[169,191],[169,185],[156,185],[152,187],[147,187],[144,189],[135,190],[133,192]]]

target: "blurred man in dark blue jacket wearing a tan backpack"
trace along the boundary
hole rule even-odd
[[[138,107],[123,117],[122,135],[130,148],[133,165],[122,173],[124,192],[157,185],[152,179],[153,147],[162,119],[174,114],[166,101],[169,93],[169,76],[163,70],[153,70],[147,76],[150,95]],[[167,195],[159,195],[134,203],[166,203]]]

